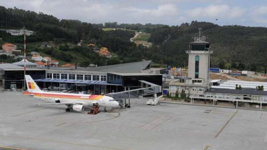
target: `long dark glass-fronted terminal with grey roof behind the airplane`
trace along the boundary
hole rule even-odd
[[[55,91],[86,91],[106,94],[129,89],[162,85],[162,75],[141,72],[150,69],[151,61],[132,62],[92,68],[26,68],[39,87]],[[0,64],[0,85],[3,89],[23,88],[24,68],[13,64]],[[2,78],[1,78],[2,77]]]

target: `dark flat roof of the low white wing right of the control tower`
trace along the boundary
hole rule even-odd
[[[258,91],[252,88],[243,88],[243,89],[228,89],[228,88],[210,88],[205,92],[208,93],[229,93],[229,94],[243,94],[243,95],[266,95],[267,91]]]

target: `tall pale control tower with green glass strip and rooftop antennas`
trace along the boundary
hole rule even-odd
[[[194,41],[189,43],[189,51],[185,51],[188,57],[188,78],[192,79],[192,83],[209,85],[209,67],[210,67],[210,43],[206,42],[206,37],[201,36],[201,28],[199,36],[193,37]],[[209,88],[209,87],[207,87]]]

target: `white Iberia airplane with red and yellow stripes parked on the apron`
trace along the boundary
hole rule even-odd
[[[109,96],[44,92],[33,81],[30,75],[25,75],[25,79],[28,90],[22,94],[48,102],[40,105],[66,105],[68,107],[66,108],[66,112],[69,112],[71,109],[76,112],[82,112],[85,106],[104,107],[104,112],[106,112],[106,107],[120,107],[119,103]]]

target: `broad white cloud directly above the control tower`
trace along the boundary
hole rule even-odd
[[[211,18],[238,18],[245,14],[245,9],[240,7],[229,7],[228,5],[210,5],[208,7],[198,7],[186,11],[191,17],[211,17]]]

